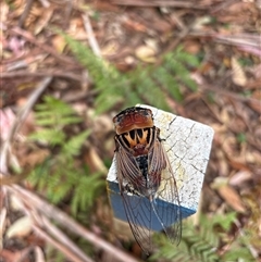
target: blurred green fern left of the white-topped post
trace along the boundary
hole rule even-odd
[[[82,118],[69,104],[53,97],[45,97],[44,103],[36,105],[35,115],[41,129],[33,134],[30,139],[50,146],[52,153],[32,172],[32,183],[45,191],[52,203],[71,196],[74,215],[78,210],[86,211],[104,186],[101,174],[89,174],[88,170],[75,163],[90,130],[69,137],[64,128],[82,122]]]

